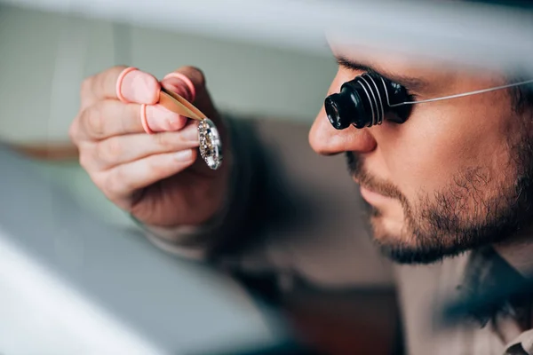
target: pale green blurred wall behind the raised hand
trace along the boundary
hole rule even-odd
[[[194,65],[221,110],[309,124],[336,71],[331,56],[0,5],[0,139],[68,141],[83,78],[115,64]]]

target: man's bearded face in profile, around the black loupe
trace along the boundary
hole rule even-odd
[[[397,77],[416,100],[505,84],[502,75],[471,68],[334,53]],[[339,66],[328,95],[363,73],[354,67]],[[320,154],[346,153],[383,251],[402,263],[429,263],[501,241],[533,220],[531,114],[514,108],[500,90],[414,105],[403,124],[335,130],[322,107],[309,139]]]

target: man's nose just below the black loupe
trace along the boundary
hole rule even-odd
[[[357,129],[354,126],[345,130],[333,128],[323,106],[309,131],[309,144],[316,153],[323,155],[370,153],[377,146],[369,129]]]

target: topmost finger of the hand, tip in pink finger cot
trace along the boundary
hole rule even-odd
[[[101,99],[118,99],[117,91],[129,102],[155,104],[161,89],[157,79],[139,69],[130,70],[121,77],[127,67],[111,67],[84,80],[82,101],[91,106]],[[117,82],[121,78],[120,85]]]

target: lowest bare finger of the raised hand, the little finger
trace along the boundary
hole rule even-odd
[[[195,158],[194,149],[150,155],[107,170],[97,180],[111,199],[128,197],[139,189],[186,170],[195,162]]]

